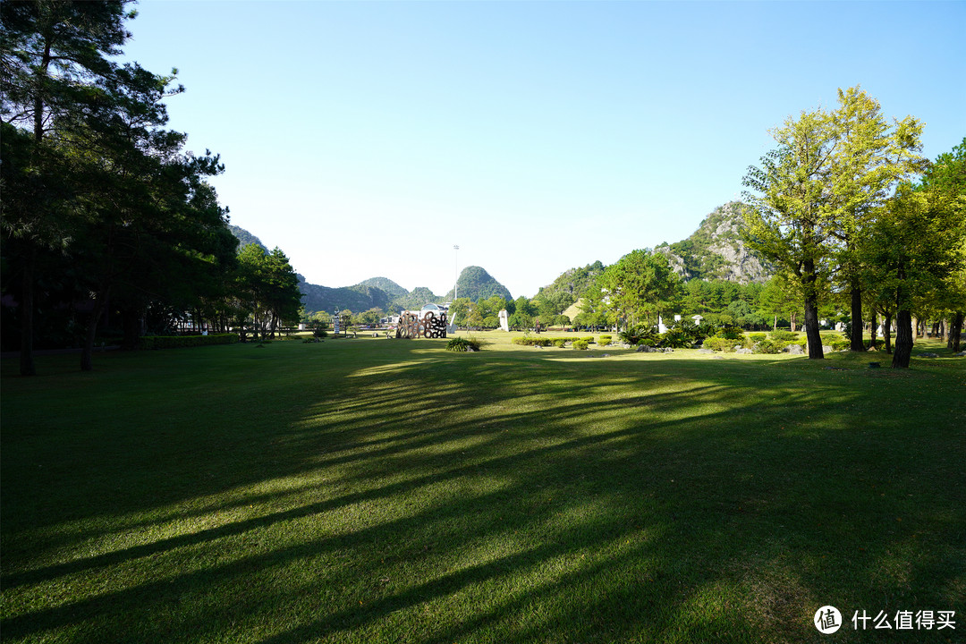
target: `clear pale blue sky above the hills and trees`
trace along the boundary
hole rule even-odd
[[[966,136],[966,2],[142,0],[126,57],[221,154],[232,223],[314,284],[514,297],[687,238],[770,127],[861,84]],[[458,244],[460,250],[454,251]]]

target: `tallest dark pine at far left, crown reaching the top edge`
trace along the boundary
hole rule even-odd
[[[30,131],[29,154],[18,159],[19,178],[5,178],[3,231],[17,238],[14,258],[21,275],[20,373],[36,373],[33,359],[34,292],[39,255],[63,247],[70,227],[62,216],[70,208],[63,160],[46,146],[61,119],[97,121],[109,116],[109,101],[98,89],[117,66],[110,60],[130,37],[124,26],[128,2],[33,0],[0,3],[0,71],[3,122]],[[5,128],[4,138],[11,136]],[[5,158],[7,158],[5,154]],[[5,163],[6,165],[6,163]],[[18,193],[19,189],[27,193]],[[29,205],[29,206],[28,206]]]

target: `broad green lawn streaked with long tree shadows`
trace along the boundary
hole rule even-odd
[[[966,359],[485,335],[5,360],[3,642],[966,639]]]

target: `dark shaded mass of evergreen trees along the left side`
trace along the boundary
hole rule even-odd
[[[130,344],[175,319],[226,327],[252,315],[270,328],[292,314],[284,255],[240,261],[209,183],[219,157],[185,151],[186,135],[165,127],[165,100],[184,91],[176,70],[115,61],[127,5],[0,4],[4,330],[19,327],[25,376],[38,331],[50,346],[79,340],[90,370],[105,319]]]

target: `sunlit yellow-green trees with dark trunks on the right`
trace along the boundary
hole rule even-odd
[[[810,358],[822,358],[823,298],[848,294],[852,350],[864,350],[864,307],[895,321],[894,367],[908,367],[914,310],[966,310],[966,140],[930,163],[923,125],[888,123],[860,88],[771,130],[778,147],[749,169],[749,242],[781,266],[804,304]],[[957,341],[953,341],[957,345]]]

